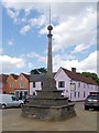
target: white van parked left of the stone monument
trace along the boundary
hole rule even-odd
[[[24,102],[12,94],[0,94],[0,108],[21,106]]]

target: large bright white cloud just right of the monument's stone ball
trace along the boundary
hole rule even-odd
[[[97,34],[97,13],[88,12],[87,16],[77,16],[61,22],[54,28],[53,51],[59,51],[72,45],[75,50],[86,50],[91,47],[92,38]],[[80,44],[81,43],[81,44]],[[78,45],[80,44],[80,45]],[[79,52],[78,50],[78,52]]]

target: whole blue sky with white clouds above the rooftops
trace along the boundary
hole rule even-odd
[[[54,71],[63,66],[97,72],[97,1],[94,1],[51,2]],[[28,73],[46,68],[50,1],[3,0],[0,9],[0,70]]]

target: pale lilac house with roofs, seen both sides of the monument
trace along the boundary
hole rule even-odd
[[[72,101],[85,100],[90,92],[98,92],[99,86],[91,78],[86,78],[76,72],[73,68],[68,71],[59,68],[54,74],[57,90],[63,90],[63,95],[68,96]],[[36,94],[36,90],[42,90],[44,74],[31,74],[30,76],[30,95]]]

